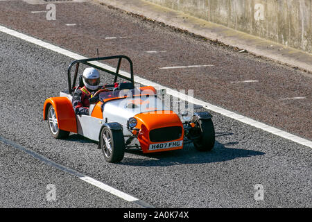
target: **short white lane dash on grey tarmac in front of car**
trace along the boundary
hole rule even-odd
[[[110,187],[108,185],[105,185],[103,182],[100,182],[98,180],[94,180],[93,178],[90,178],[88,176],[83,176],[79,178],[80,180],[83,180],[85,182],[88,182],[91,185],[94,185],[100,189],[103,189],[110,194],[114,194],[115,196],[118,196],[119,198],[122,198],[123,200],[127,200],[129,202],[139,200],[138,198],[135,198],[134,196],[131,196],[129,194],[125,194],[122,191],[115,189],[114,187]]]

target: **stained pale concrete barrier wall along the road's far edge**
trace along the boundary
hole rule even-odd
[[[312,53],[312,0],[146,0]]]

